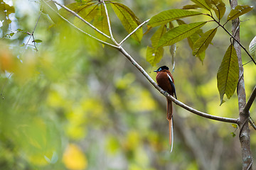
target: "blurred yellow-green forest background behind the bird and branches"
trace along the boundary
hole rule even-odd
[[[233,125],[174,105],[174,150],[170,153],[166,98],[122,54],[87,38],[60,18],[53,23],[42,13],[38,20],[40,1],[0,2],[15,9],[7,20],[0,8],[0,169],[241,169],[239,130]],[[129,6],[141,22],[161,11],[192,4],[186,0],[119,2]],[[256,4],[252,0],[239,3]],[[127,33],[111,10],[110,17],[119,42]],[[256,35],[255,9],[240,20],[241,42],[248,47]],[[27,34],[35,26],[34,37],[42,40],[36,42],[38,51]],[[129,38],[123,47],[155,79],[153,70],[172,66],[168,48],[156,67],[146,62],[146,45],[153,33],[154,29],[140,44]],[[212,115],[238,118],[236,94],[220,106],[216,81],[229,43],[228,35],[219,29],[202,63],[191,55],[187,40],[178,42],[173,72],[178,100]],[[250,60],[244,51],[242,59],[244,63]],[[248,98],[255,86],[256,67],[252,62],[244,67]],[[252,119],[255,112],[254,104]],[[251,132],[252,154],[256,155],[256,135]]]

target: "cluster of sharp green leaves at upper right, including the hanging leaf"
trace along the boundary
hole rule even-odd
[[[164,11],[164,12],[157,14],[156,16],[153,16],[151,18],[151,20],[149,21],[149,26],[154,27],[154,26],[161,25],[161,28],[159,28],[159,29],[162,30],[163,29],[162,27],[164,27],[166,25],[166,23],[169,23],[171,21],[179,19],[178,22],[180,22],[180,23],[182,22],[182,25],[171,28],[166,33],[162,34],[159,41],[156,40],[156,42],[158,41],[157,47],[174,45],[176,42],[179,42],[179,41],[183,40],[184,38],[188,38],[189,42],[191,42],[190,44],[191,44],[191,47],[193,50],[193,55],[198,57],[203,62],[204,52],[206,51],[206,49],[208,48],[208,45],[213,40],[218,27],[221,26],[220,19],[223,18],[224,14],[225,14],[225,4],[221,0],[216,0],[216,1],[192,0],[192,1],[196,4],[197,8],[205,8],[208,12],[210,12],[210,14],[199,13],[197,11],[188,11],[188,10],[184,10],[184,9],[171,9],[169,11]],[[186,9],[195,8],[195,5],[186,6],[185,8]],[[213,13],[211,12],[211,9],[213,9],[213,11],[215,12],[219,21],[217,21],[217,20],[215,20],[215,18],[213,18]],[[230,11],[230,13],[228,14],[226,23],[235,18],[238,18],[239,16],[242,16],[243,14],[245,14],[251,10],[252,10],[251,6],[236,6],[236,8],[232,9]],[[202,15],[202,14],[210,16],[210,18],[212,18],[213,21],[218,23],[218,27],[206,31],[206,33],[203,33],[201,35],[201,37],[199,37],[199,36],[196,37],[197,38],[196,40],[191,40],[191,39],[195,38],[195,36],[193,36],[193,35],[196,32],[198,32],[198,30],[202,26],[204,26],[206,23],[209,23],[210,21],[185,24],[180,19],[186,18],[188,16],[197,16],[197,15]],[[225,24],[223,24],[223,26],[225,26]],[[221,26],[221,27],[223,28],[223,26]],[[225,29],[225,28],[223,28],[223,29]],[[163,50],[161,48],[154,49],[151,47],[148,47],[147,50],[148,50],[147,55],[146,55],[147,61],[154,66],[156,63],[158,63],[161,60],[161,57],[163,56]],[[153,52],[152,52],[152,50],[153,50]],[[158,50],[160,50],[160,51],[158,52]],[[230,51],[226,52],[226,55],[223,57],[223,61],[226,60],[226,58],[227,58],[226,56],[229,52]],[[150,56],[150,54],[151,54],[151,56]],[[230,55],[230,56],[234,56],[233,58],[237,58],[235,54]],[[235,92],[236,84],[239,79],[239,77],[238,77],[238,72],[239,72],[238,60],[233,60],[232,62],[236,62],[236,63],[235,64],[224,64],[224,62],[223,62],[220,65],[220,69],[218,72],[217,80],[218,80],[218,89],[220,92],[221,103],[223,103],[224,94],[226,94],[228,98],[233,96],[233,93]],[[232,77],[232,79],[230,79],[230,77],[228,77],[228,76],[224,77],[223,72],[220,71],[223,69],[227,70],[226,72],[228,72],[229,74],[236,75],[236,76]],[[229,74],[227,74],[227,75],[229,75]],[[220,75],[222,75],[222,76],[220,76]],[[232,84],[228,84],[227,83],[228,81],[232,82]],[[220,86],[221,86],[221,88],[220,88]],[[225,89],[229,89],[229,90],[225,90]]]

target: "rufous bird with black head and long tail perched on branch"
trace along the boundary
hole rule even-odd
[[[154,70],[156,72],[156,82],[157,84],[166,91],[171,96],[176,96],[176,89],[174,86],[174,77],[169,71],[169,67],[161,66],[159,69]],[[167,114],[166,119],[169,121],[169,145],[171,145],[171,152],[174,146],[174,119],[173,119],[173,108],[172,102],[169,98],[167,99]]]

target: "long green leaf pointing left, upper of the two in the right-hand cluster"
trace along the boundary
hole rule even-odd
[[[170,9],[167,11],[163,11],[156,16],[153,16],[149,21],[149,26],[156,27],[160,26],[166,23],[169,23],[170,21],[174,21],[179,18],[185,18],[188,16],[198,16],[202,13],[196,12],[196,11],[187,11],[184,9]]]

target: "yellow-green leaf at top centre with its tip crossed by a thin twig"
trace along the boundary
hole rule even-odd
[[[132,31],[140,25],[139,18],[137,18],[132,10],[124,4],[111,1],[111,6],[128,33],[132,33]],[[139,28],[134,34],[132,34],[132,38],[138,42],[142,40],[142,36],[142,28]]]

